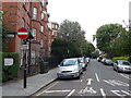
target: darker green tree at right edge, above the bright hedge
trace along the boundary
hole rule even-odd
[[[119,36],[110,42],[110,48],[114,51],[112,56],[131,56],[131,33],[120,33]]]

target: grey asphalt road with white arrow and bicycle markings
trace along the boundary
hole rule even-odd
[[[58,79],[41,90],[37,96],[59,96],[61,98],[79,97],[117,97],[131,98],[130,74],[117,73],[112,66],[104,65],[92,59],[80,79]]]

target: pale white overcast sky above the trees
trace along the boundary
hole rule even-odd
[[[93,42],[93,35],[105,24],[118,23],[126,27],[129,21],[131,0],[48,0],[49,21],[79,22],[86,32],[86,40]],[[96,46],[96,42],[93,42]]]

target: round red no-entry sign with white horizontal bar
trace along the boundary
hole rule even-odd
[[[26,28],[22,27],[17,30],[17,36],[21,39],[26,39],[28,37],[28,30]]]

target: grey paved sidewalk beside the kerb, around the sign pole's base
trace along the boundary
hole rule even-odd
[[[10,81],[2,84],[2,96],[31,96],[40,88],[57,79],[58,69],[50,70],[48,73],[37,74],[27,77],[27,86],[23,88],[23,79]],[[1,87],[0,87],[1,88]]]

